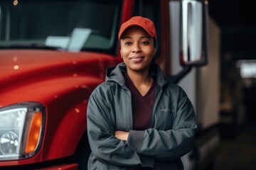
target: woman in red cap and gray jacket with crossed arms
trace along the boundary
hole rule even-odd
[[[183,169],[196,117],[186,93],[154,62],[154,23],[134,16],[119,41],[124,62],[107,69],[88,103],[88,169]]]

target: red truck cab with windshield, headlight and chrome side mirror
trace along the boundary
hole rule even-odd
[[[87,169],[87,100],[106,68],[122,62],[121,23],[138,15],[154,21],[157,62],[178,82],[207,64],[206,9],[193,0],[1,1],[0,169]],[[181,31],[171,30],[171,18]],[[181,57],[171,53],[174,35]],[[174,58],[183,68],[175,75]],[[199,167],[195,153],[190,162]]]

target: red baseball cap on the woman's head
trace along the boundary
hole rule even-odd
[[[139,26],[143,28],[144,30],[146,30],[146,33],[148,33],[152,38],[156,40],[156,28],[154,27],[153,21],[151,21],[149,18],[144,18],[142,16],[134,16],[128,21],[122,23],[122,26],[120,27],[118,33],[118,39],[120,40],[124,31],[132,26]]]

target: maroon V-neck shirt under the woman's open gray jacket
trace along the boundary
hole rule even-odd
[[[154,102],[154,91],[156,88],[156,81],[153,81],[149,91],[142,96],[138,89],[132,83],[128,74],[124,74],[124,79],[127,84],[127,88],[132,94],[132,121],[133,130],[146,130],[150,128],[151,111]],[[149,170],[150,168],[134,168],[134,170]]]

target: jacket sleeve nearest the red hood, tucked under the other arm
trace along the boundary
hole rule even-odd
[[[113,119],[110,104],[99,93],[92,93],[87,106],[87,135],[96,159],[114,166],[154,167],[154,158],[138,154],[127,142],[114,137]]]

